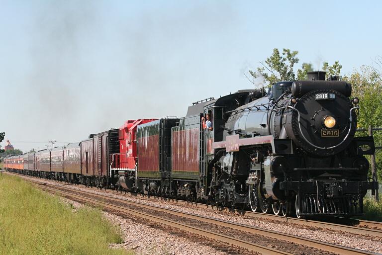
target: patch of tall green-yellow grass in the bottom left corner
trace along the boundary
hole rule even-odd
[[[72,211],[19,177],[0,176],[0,255],[126,255],[118,229],[88,206]]]

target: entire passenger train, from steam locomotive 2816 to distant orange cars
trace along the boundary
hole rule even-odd
[[[372,137],[358,98],[325,72],[193,103],[182,118],[128,120],[82,142],[10,157],[5,168],[91,186],[289,215],[357,215]],[[202,117],[212,119],[205,129]],[[294,208],[294,210],[291,210]]]

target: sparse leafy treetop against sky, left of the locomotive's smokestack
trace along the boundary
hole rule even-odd
[[[257,68],[257,72],[250,70],[249,73],[254,78],[263,77],[269,86],[282,81],[294,81],[293,67],[298,63],[297,54],[298,51],[283,49],[283,53],[280,55],[279,49],[275,48],[271,57],[267,58],[264,63],[260,62],[262,67]]]

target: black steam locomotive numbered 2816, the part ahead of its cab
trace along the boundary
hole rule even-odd
[[[307,81],[281,82],[252,91],[221,128],[215,142],[211,192],[222,203],[246,203],[253,211],[287,215],[363,213],[372,137],[355,137],[358,98],[352,87],[324,72]],[[228,113],[228,112],[227,112]],[[215,137],[216,138],[216,137]],[[216,141],[216,139],[215,139]]]

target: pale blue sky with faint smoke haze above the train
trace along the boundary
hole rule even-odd
[[[381,12],[381,1],[0,0],[0,131],[26,151],[181,117],[253,87],[243,72],[273,48],[348,74],[382,55]]]

